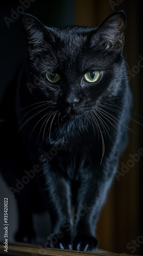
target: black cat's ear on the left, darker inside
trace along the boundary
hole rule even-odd
[[[44,45],[47,40],[52,43],[55,41],[51,32],[34,16],[22,14],[21,20],[30,48]]]

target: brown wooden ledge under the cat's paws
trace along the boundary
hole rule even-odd
[[[4,251],[4,244],[0,244],[0,255],[18,255],[18,256],[84,256],[84,255],[92,255],[92,256],[125,256],[125,254],[120,253],[93,253],[93,252],[82,252],[82,251],[70,251],[70,250],[61,250],[61,249],[44,249],[35,245],[27,245],[27,244],[9,244],[8,252]],[[129,254],[126,254],[129,256]],[[134,255],[135,256],[135,255]]]

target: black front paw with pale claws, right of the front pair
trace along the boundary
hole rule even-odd
[[[94,252],[98,248],[96,238],[89,236],[77,236],[74,240],[73,250]]]

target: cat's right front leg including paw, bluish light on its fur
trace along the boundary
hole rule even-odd
[[[89,177],[86,176],[85,177]],[[82,182],[79,187],[77,206],[75,215],[77,220],[74,222],[74,250],[96,251],[98,241],[96,235],[96,224],[102,205],[105,201],[109,181],[91,179]]]

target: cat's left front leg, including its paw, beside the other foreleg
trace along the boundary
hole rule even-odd
[[[49,174],[49,181],[50,181]],[[45,247],[73,249],[73,223],[71,219],[70,186],[62,178],[52,177],[44,190],[44,198],[50,212],[53,233],[47,237]]]

